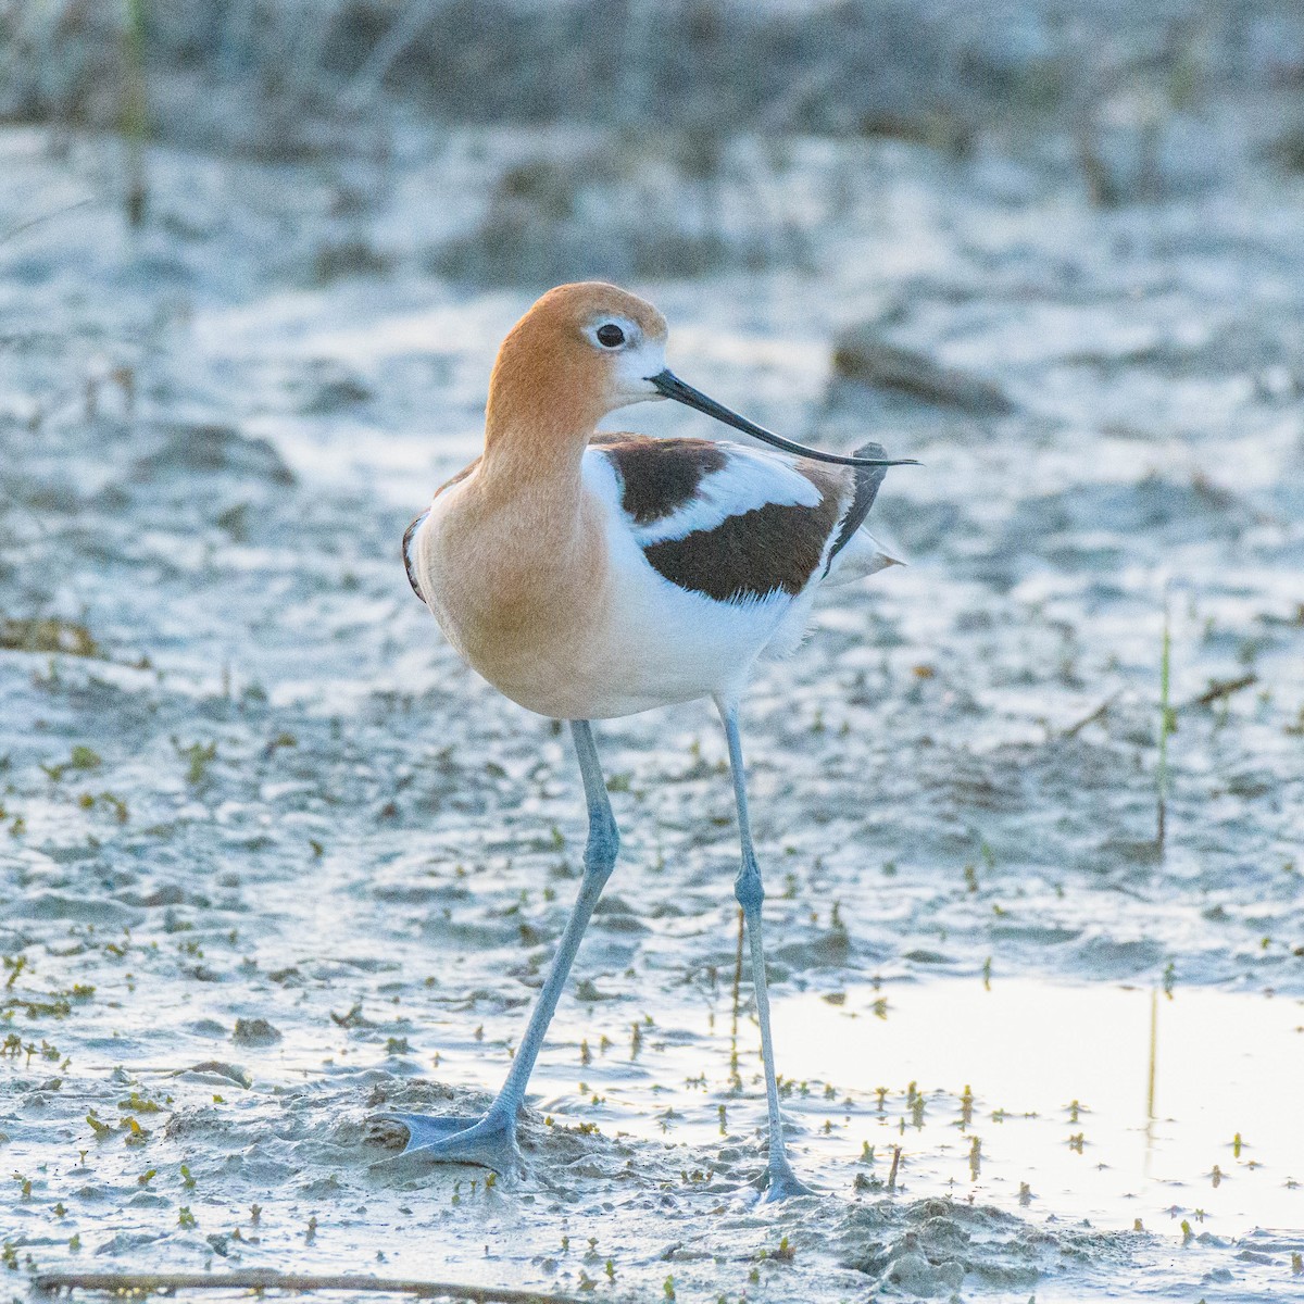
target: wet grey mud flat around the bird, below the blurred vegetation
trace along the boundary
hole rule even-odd
[[[532,297],[445,279],[471,230],[452,200],[591,147],[464,129],[412,142],[383,186],[372,163],[160,149],[143,232],[98,203],[0,245],[14,1290],[85,1265],[609,1299],[1284,1297],[1287,1131],[1236,1124],[1162,1204],[1086,1217],[1054,1192],[1118,1162],[1104,1103],[1093,1134],[1090,1099],[998,1094],[958,1052],[955,1080],[911,1081],[902,1051],[840,1072],[781,1041],[795,1162],[825,1193],[754,1205],[759,1047],[703,705],[599,732],[622,862],[540,1064],[531,1175],[386,1164],[369,1115],[497,1086],[576,887],[567,739],[458,662],[398,539],[473,456]],[[102,198],[113,149],[7,128],[22,185],[0,226]],[[780,1012],[855,1012],[838,1035],[861,1045],[906,994],[985,982],[1304,996],[1299,181],[1104,210],[893,142],[794,140],[782,167],[799,259],[635,286],[690,382],[925,463],[875,509],[910,566],[823,602],[745,715]],[[945,1042],[944,1013],[919,1035]],[[1134,1072],[1131,1043],[1088,1033]],[[1260,1050],[1265,1074],[1297,1065]],[[1223,1051],[1245,1046],[1211,1046],[1210,1081]],[[1003,1140],[1016,1111],[1060,1111],[1058,1159]],[[1277,1221],[1217,1202],[1251,1187]]]

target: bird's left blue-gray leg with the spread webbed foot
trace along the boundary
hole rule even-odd
[[[516,1149],[516,1114],[526,1098],[526,1084],[539,1059],[544,1035],[566,986],[580,939],[588,927],[597,898],[612,876],[621,845],[612,803],[606,795],[606,782],[602,778],[602,765],[593,743],[592,725],[587,720],[572,720],[571,733],[584,780],[584,797],[588,801],[588,845],[584,849],[584,878],[580,882],[579,897],[570,919],[566,921],[548,981],[539,994],[535,1012],[529,1016],[529,1026],[511,1063],[507,1081],[503,1082],[502,1090],[482,1119],[437,1118],[424,1114],[379,1115],[407,1127],[408,1144],[403,1157],[413,1155],[439,1163],[477,1163],[497,1172],[511,1172],[522,1166],[520,1151]]]

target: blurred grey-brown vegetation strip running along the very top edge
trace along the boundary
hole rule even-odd
[[[1297,0],[9,0],[0,117],[111,124],[121,30],[142,13],[155,134],[215,129],[202,99],[224,91],[235,116],[278,111],[266,149],[306,147],[278,129],[363,112],[382,90],[449,123],[885,134],[962,153],[1129,83],[1181,111],[1304,85]]]

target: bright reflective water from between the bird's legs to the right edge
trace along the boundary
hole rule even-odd
[[[750,1137],[755,1025],[720,995],[730,1017],[645,1026],[636,1063],[595,1058],[583,1099],[554,1059],[548,1107],[670,1142],[720,1144],[726,1119]],[[1297,999],[975,979],[798,995],[773,1018],[784,1111],[825,1189],[1197,1235],[1304,1223]]]

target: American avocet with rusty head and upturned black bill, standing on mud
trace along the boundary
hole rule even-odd
[[[666,370],[665,318],[614,286],[549,291],[503,342],[484,452],[408,528],[412,588],[463,657],[514,702],[567,720],[588,799],[575,909],[511,1071],[480,1119],[391,1114],[404,1154],[520,1166],[516,1114],[619,836],[589,725],[712,698],[733,769],[769,1106],[767,1198],[805,1192],[784,1153],[747,823],[738,703],[763,653],[801,639],[815,591],[892,565],[862,528],[897,466],[878,445],[818,452],[721,407]],[[782,450],[597,434],[615,408],[675,399]]]

